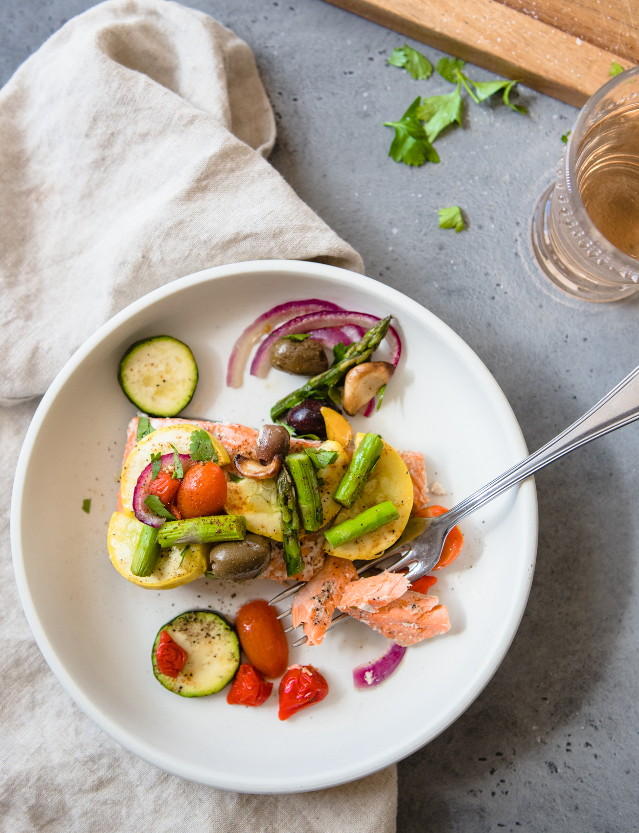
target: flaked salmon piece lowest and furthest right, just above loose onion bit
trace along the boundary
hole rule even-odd
[[[409,590],[390,604],[369,613],[353,608],[345,612],[366,622],[373,631],[387,636],[405,648],[450,630],[448,608],[438,604],[437,596],[423,596]],[[340,606],[340,610],[344,608]]]

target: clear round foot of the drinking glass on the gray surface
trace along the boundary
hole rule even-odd
[[[623,298],[630,297],[638,292],[639,286],[636,284],[616,287],[603,286],[601,283],[577,277],[574,272],[564,265],[553,249],[548,234],[548,213],[550,212],[550,202],[554,188],[555,183],[553,182],[537,202],[531,227],[532,252],[548,280],[574,298],[595,303],[622,301]]]

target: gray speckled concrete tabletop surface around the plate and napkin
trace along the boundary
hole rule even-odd
[[[4,0],[0,81],[91,5]],[[192,5],[255,52],[277,112],[272,163],[362,253],[368,275],[468,342],[531,450],[637,365],[639,298],[572,301],[532,262],[532,209],[574,108],[527,89],[519,96],[527,117],[500,102],[471,104],[463,129],[437,141],[442,162],[410,169],[387,157],[392,132],[382,122],[418,94],[451,87],[386,65],[403,37],[321,0]],[[467,232],[437,228],[437,209],[454,204]],[[639,828],[638,431],[625,428],[537,476],[539,552],[522,626],[477,701],[400,763],[399,833]]]

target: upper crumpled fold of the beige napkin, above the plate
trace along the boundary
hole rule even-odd
[[[280,257],[362,272],[273,142],[251,49],[178,3],[103,2],[29,57],[0,91],[0,403],[177,277]]]

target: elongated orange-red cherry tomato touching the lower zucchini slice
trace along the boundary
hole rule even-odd
[[[237,611],[235,627],[248,661],[266,677],[282,676],[288,665],[288,643],[275,608],[264,599],[249,601]]]

